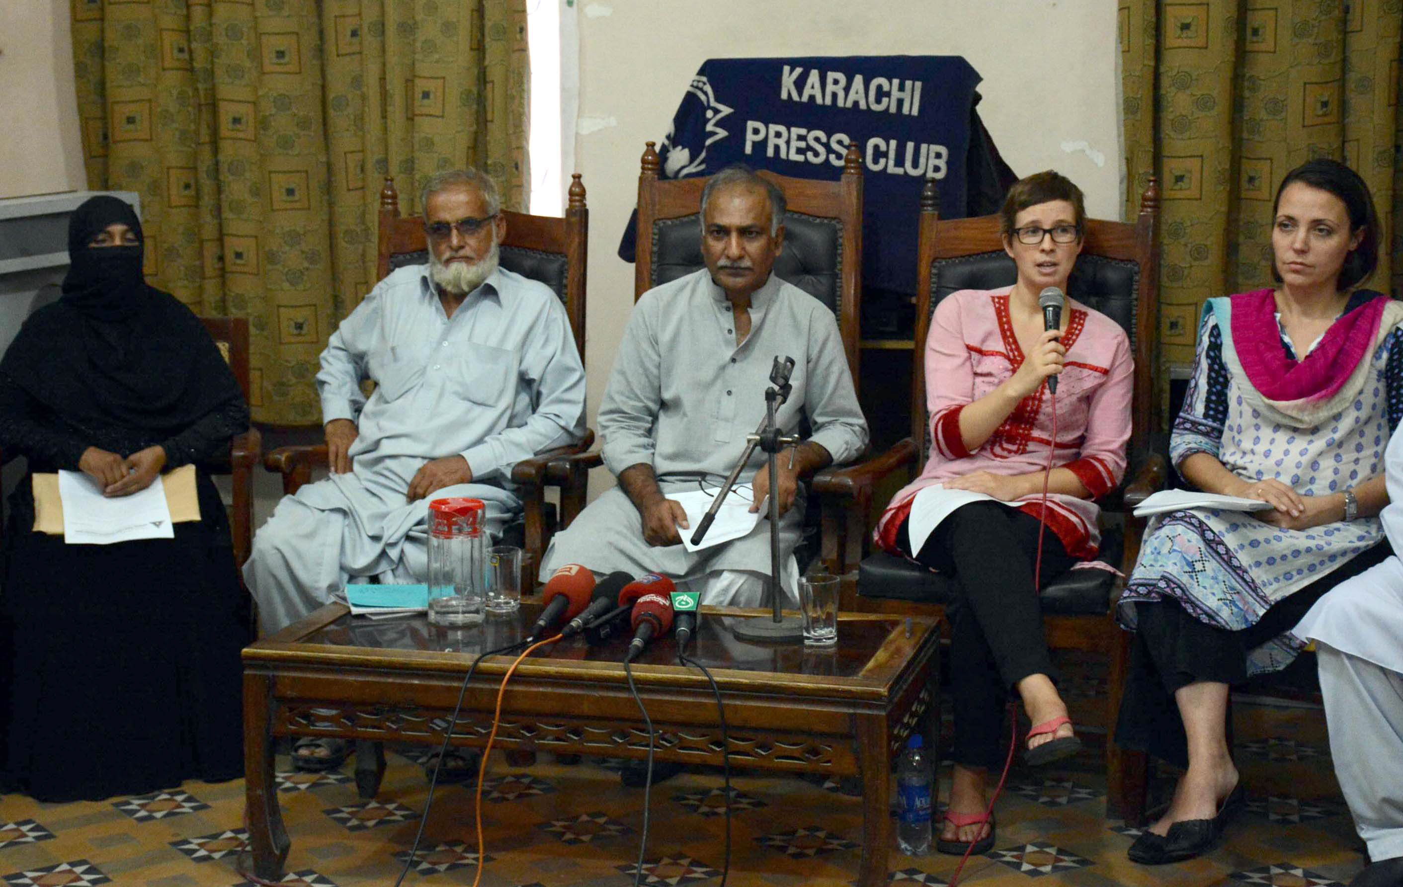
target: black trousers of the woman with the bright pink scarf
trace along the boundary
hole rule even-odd
[[[1257,625],[1239,632],[1200,622],[1173,599],[1136,603],[1135,640],[1131,641],[1115,742],[1176,766],[1188,766],[1188,737],[1174,692],[1201,681],[1242,683],[1247,679],[1249,651],[1289,632],[1327,591],[1392,553],[1383,542],[1357,554],[1334,573],[1278,601]]]

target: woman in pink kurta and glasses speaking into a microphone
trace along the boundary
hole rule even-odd
[[[955,292],[936,307],[925,356],[930,460],[875,531],[881,547],[950,574],[958,588],[950,608],[954,775],[936,845],[946,853],[993,845],[986,780],[1003,766],[1009,691],[1034,724],[1030,763],[1079,747],[1056,692],[1035,574],[1047,584],[1096,556],[1094,500],[1125,470],[1134,387],[1129,341],[1110,317],[1069,299],[1061,328],[1044,331],[1038,296],[1065,291],[1083,225],[1080,189],[1054,171],[1009,191],[1003,243],[1017,282]]]

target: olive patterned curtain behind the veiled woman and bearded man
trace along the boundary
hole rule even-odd
[[[88,187],[142,195],[154,286],[248,317],[258,421],[318,421],[384,175],[528,202],[525,0],[73,0],[73,56]]]

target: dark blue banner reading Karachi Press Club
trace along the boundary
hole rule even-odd
[[[939,181],[941,218],[968,215],[979,80],[961,56],[710,59],[658,147],[661,173],[686,178],[745,163],[836,180],[856,145],[866,167],[863,286],[915,293],[925,180]],[[630,225],[620,246],[629,260],[633,236]]]

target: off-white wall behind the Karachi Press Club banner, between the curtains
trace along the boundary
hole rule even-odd
[[[1014,173],[1055,167],[1093,216],[1122,216],[1120,51],[1108,0],[577,0],[575,170],[589,201],[591,425],[633,307],[617,257],[638,157],[709,58],[962,55],[979,115]],[[567,74],[568,76],[568,74]],[[591,494],[610,483],[591,477]]]

